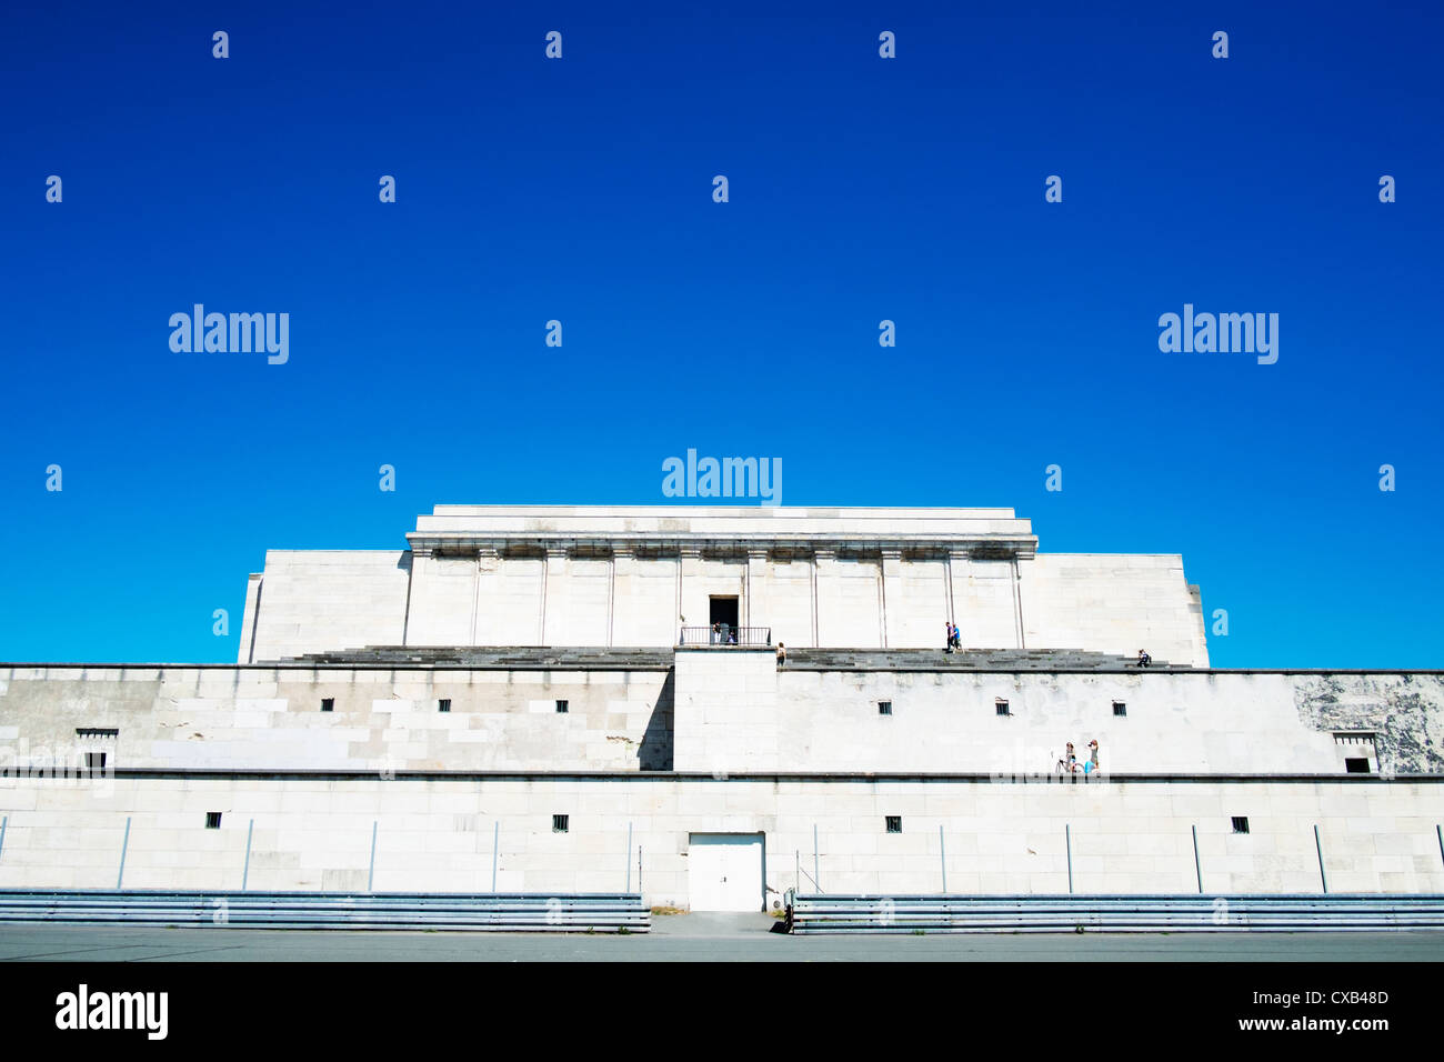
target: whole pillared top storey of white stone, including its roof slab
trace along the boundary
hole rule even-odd
[[[1177,555],[1038,553],[1011,509],[438,506],[406,551],[269,551],[240,662],[361,646],[671,646],[710,598],[794,647],[1082,649],[1206,668]]]

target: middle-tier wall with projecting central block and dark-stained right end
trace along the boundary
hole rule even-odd
[[[679,650],[677,770],[1444,773],[1438,673],[788,670]],[[887,704],[887,714],[882,704]],[[1122,714],[1119,714],[1122,711]],[[1340,737],[1346,735],[1346,737]]]

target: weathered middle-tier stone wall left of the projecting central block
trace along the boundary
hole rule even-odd
[[[81,733],[97,730],[118,733]],[[669,769],[671,681],[667,669],[0,670],[0,770],[84,751],[157,770]]]

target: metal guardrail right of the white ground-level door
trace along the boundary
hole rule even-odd
[[[1444,894],[799,896],[793,933],[1149,933],[1444,929]]]

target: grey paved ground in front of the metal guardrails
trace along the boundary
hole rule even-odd
[[[0,926],[4,961],[1441,961],[1444,933],[1004,933],[787,936],[767,915],[653,918],[645,935],[386,933]]]

